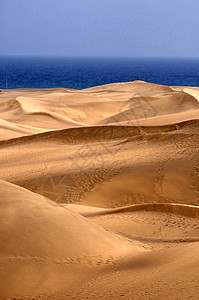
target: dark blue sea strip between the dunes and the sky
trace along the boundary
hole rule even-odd
[[[0,88],[84,89],[140,80],[199,86],[199,58],[0,57]]]

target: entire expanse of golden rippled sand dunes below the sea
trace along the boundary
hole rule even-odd
[[[199,88],[0,92],[0,299],[198,299]]]

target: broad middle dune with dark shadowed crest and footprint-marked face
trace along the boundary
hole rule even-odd
[[[197,205],[198,143],[197,121],[43,133],[0,143],[1,178],[56,202]]]

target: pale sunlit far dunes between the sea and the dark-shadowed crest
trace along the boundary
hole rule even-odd
[[[0,118],[24,129],[31,126],[35,133],[88,125],[161,126],[197,119],[197,95],[197,89],[176,90],[142,81],[76,92],[10,90],[0,95]],[[17,128],[12,131],[13,137],[25,135]],[[1,140],[4,136],[0,134]]]

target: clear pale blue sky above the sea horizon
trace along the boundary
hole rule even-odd
[[[199,0],[0,0],[0,55],[199,57]]]

